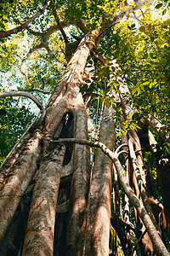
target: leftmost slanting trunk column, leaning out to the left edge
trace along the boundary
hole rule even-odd
[[[26,143],[20,153],[20,158],[15,161],[0,191],[0,241],[3,239],[8,224],[14,216],[20,199],[25,194],[33,175],[37,171],[37,160],[41,153],[41,138],[41,132],[36,131],[34,136]]]

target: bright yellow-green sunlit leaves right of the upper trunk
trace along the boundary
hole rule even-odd
[[[105,55],[114,55],[130,90],[129,101],[145,117],[170,125],[170,20],[144,20],[139,30],[127,22],[116,26],[102,42]]]

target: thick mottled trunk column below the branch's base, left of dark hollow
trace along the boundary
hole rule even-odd
[[[54,222],[65,147],[45,143],[22,255],[53,255]]]

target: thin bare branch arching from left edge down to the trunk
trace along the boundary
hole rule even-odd
[[[40,108],[42,111],[44,110],[42,103],[38,101],[37,97],[33,96],[30,92],[27,91],[22,91],[22,90],[18,90],[18,91],[4,91],[4,92],[0,92],[0,98],[5,98],[8,96],[26,96],[28,98],[30,98],[33,102],[35,102],[37,104],[37,107]]]

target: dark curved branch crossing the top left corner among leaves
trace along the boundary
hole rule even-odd
[[[48,9],[48,0],[46,0],[44,7],[37,12],[36,15],[31,16],[26,22],[22,23],[20,26],[17,26],[13,29],[10,29],[8,31],[0,31],[0,39],[7,38],[8,36],[12,34],[17,34],[18,32],[21,32],[22,30],[26,29],[26,27],[37,17],[42,15],[42,13],[45,11],[45,9]]]

